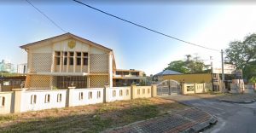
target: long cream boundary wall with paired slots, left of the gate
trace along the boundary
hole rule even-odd
[[[14,89],[0,92],[0,114],[24,113],[50,108],[76,107],[89,104],[124,101],[156,96],[156,85],[68,90]]]

